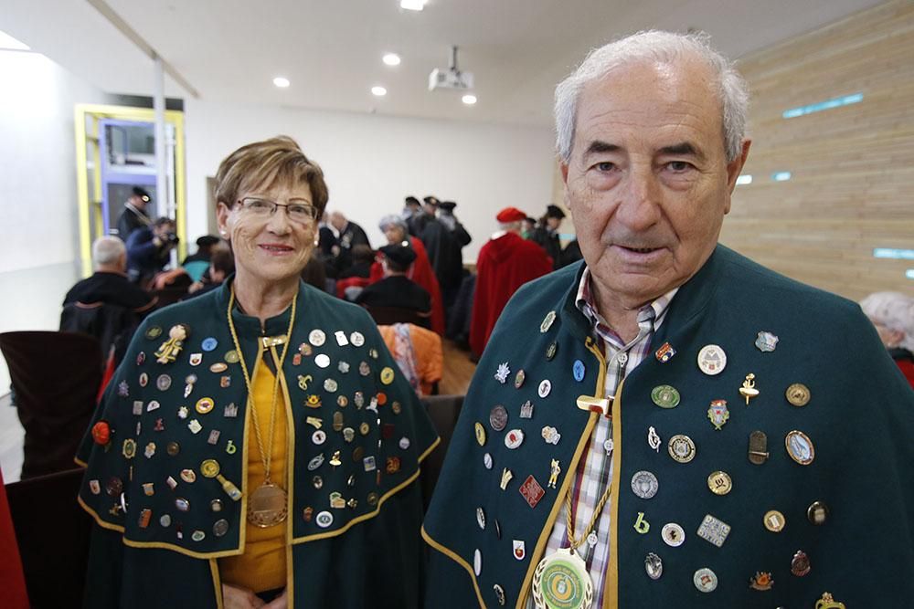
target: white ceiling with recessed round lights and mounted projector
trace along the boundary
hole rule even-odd
[[[108,0],[201,99],[547,125],[552,91],[590,47],[657,27],[703,29],[731,57],[879,0]],[[152,62],[86,0],[3,0],[0,30],[110,93],[151,95]],[[479,102],[427,89],[451,45]],[[402,63],[381,62],[388,51]],[[275,76],[292,81],[272,85]],[[388,89],[371,95],[374,85]],[[166,79],[169,97],[189,93]]]

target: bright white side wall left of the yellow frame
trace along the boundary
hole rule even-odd
[[[0,50],[0,83],[0,332],[57,330],[79,275],[73,105],[106,96],[21,51]]]

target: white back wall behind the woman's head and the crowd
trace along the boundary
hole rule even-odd
[[[188,240],[207,232],[207,176],[240,145],[285,134],[324,168],[328,209],[365,228],[384,245],[382,215],[399,213],[403,198],[434,194],[457,202],[455,214],[473,236],[463,250],[475,260],[496,229],[494,215],[514,205],[542,215],[552,193],[552,132],[456,121],[367,114],[186,103]],[[207,216],[208,215],[208,216]]]

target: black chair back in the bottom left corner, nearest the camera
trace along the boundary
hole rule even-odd
[[[82,604],[91,533],[90,516],[76,502],[82,474],[69,469],[6,486],[33,609]]]

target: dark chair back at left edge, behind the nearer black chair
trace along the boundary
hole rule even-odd
[[[26,430],[22,479],[73,467],[101,383],[99,341],[75,332],[0,334]]]

